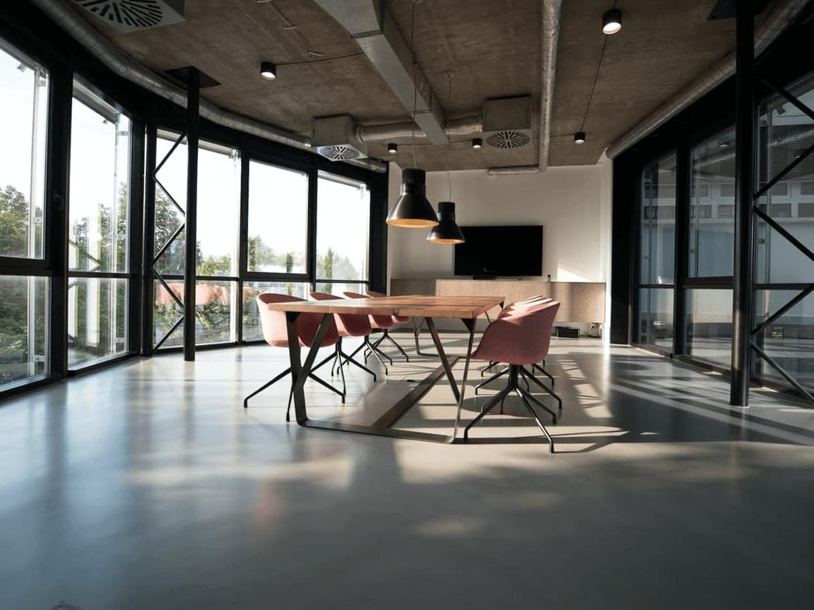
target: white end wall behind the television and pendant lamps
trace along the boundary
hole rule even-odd
[[[543,277],[553,281],[610,278],[610,161],[549,168],[536,174],[488,176],[486,170],[451,172],[458,224],[542,224]],[[390,205],[401,171],[390,168]],[[449,199],[446,172],[427,173],[427,198]],[[453,277],[453,246],[425,241],[426,229],[390,227],[390,278]]]

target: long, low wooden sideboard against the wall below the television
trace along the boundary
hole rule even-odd
[[[390,294],[502,296],[505,297],[506,303],[533,297],[536,294],[545,294],[560,302],[558,322],[574,324],[605,322],[605,282],[602,281],[393,279],[390,281]]]

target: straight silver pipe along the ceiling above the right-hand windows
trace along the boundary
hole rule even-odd
[[[775,0],[775,2],[772,2],[771,6],[764,12],[759,24],[755,26],[755,57],[758,57],[759,54],[766,50],[772,41],[786,29],[790,22],[794,20],[794,17],[803,10],[807,2],[808,0]],[[715,89],[716,86],[734,73],[735,53],[732,50],[688,87],[668,100],[662,107],[659,107],[659,110],[611,144],[606,150],[606,155],[609,159],[613,159],[628,150],[641,138],[659,129],[661,125],[667,123],[668,120],[695,100],[707,94],[711,89]]]

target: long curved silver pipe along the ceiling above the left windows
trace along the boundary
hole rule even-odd
[[[71,37],[90,51],[96,58],[100,59],[107,68],[116,72],[119,76],[128,81],[147,89],[153,94],[173,102],[180,107],[186,108],[186,91],[173,85],[162,76],[159,76],[142,64],[134,61],[128,55],[116,48],[112,42],[98,33],[84,17],[73,8],[68,7],[64,0],[31,0],[37,8],[45,13],[50,20],[54,21],[60,28],[65,30]],[[234,129],[253,136],[262,137],[271,142],[278,142],[286,146],[291,146],[299,150],[307,150],[317,154],[317,150],[311,147],[308,138],[296,133],[291,133],[283,129],[278,129],[272,125],[261,123],[260,121],[249,119],[246,116],[225,111],[217,107],[212,102],[204,99],[200,100],[200,116],[212,123],[223,127]],[[384,163],[376,159],[357,159],[354,161],[344,161],[359,167],[373,170],[374,172],[385,172]]]

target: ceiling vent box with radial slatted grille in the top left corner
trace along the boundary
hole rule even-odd
[[[73,0],[117,32],[131,33],[184,21],[184,0]]]

